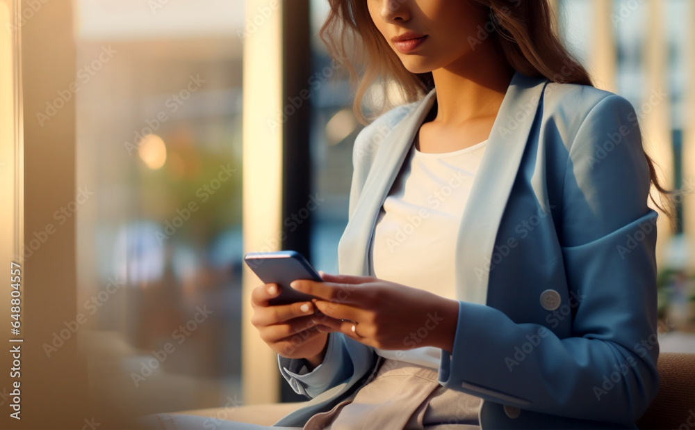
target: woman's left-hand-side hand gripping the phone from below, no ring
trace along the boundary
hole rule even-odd
[[[268,301],[279,294],[280,287],[275,283],[253,289],[251,324],[258,329],[263,342],[280,356],[306,358],[316,367],[323,360],[329,328],[317,323],[316,308],[310,301],[269,305]]]

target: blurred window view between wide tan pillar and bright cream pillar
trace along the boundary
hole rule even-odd
[[[97,404],[240,396],[244,1],[75,3],[78,306]],[[60,94],[59,94],[60,95]]]

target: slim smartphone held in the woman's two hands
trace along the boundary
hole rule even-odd
[[[271,298],[270,305],[286,305],[297,301],[311,301],[314,296],[298,292],[290,287],[297,279],[311,279],[322,282],[321,276],[313,269],[306,258],[297,251],[281,250],[270,253],[247,253],[244,261],[266,284],[277,283],[280,295]]]

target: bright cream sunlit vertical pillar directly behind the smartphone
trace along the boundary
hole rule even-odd
[[[243,33],[244,253],[279,250],[281,246],[284,4],[277,0],[246,0]],[[251,291],[260,283],[244,266],[241,352],[245,404],[279,400],[275,353],[250,323]]]

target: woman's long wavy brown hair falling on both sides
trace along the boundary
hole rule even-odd
[[[334,60],[350,72],[350,81],[357,88],[352,110],[359,122],[366,125],[389,107],[384,103],[375,116],[367,118],[364,115],[363,99],[375,83],[381,86],[384,100],[395,90],[405,102],[415,102],[434,88],[432,72],[414,74],[404,67],[375,26],[366,1],[327,1],[330,11],[319,35]],[[555,17],[548,0],[517,0],[514,7],[510,7],[509,0],[467,1],[475,1],[489,9],[494,28],[490,37],[514,70],[529,77],[546,77],[552,82],[594,86],[587,70],[557,37],[553,26]],[[651,201],[673,225],[676,213],[671,196],[678,191],[667,190],[657,176],[653,159],[646,152],[644,157],[651,184],[661,196],[657,201],[650,193]]]

